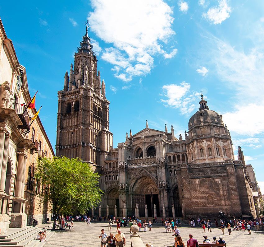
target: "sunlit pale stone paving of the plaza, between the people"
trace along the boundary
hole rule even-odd
[[[107,222],[92,222],[90,226],[87,226],[83,222],[74,222],[74,227],[69,231],[56,231],[55,234],[51,236],[49,242],[45,247],[51,246],[89,246],[89,247],[100,247],[99,235],[101,229],[104,229],[107,235],[108,223]],[[187,240],[189,239],[189,234],[193,234],[193,237],[198,239],[198,242],[203,242],[203,236],[207,237],[212,241],[213,237],[222,235],[221,229],[212,228],[212,232],[203,232],[200,227],[190,228],[189,226],[179,227],[181,236],[184,240],[184,244],[187,247]],[[148,229],[149,230],[149,229]],[[206,229],[207,230],[207,229]],[[126,247],[131,246],[129,227],[121,228],[121,231],[126,236]],[[115,234],[116,227],[112,227],[112,232]],[[166,233],[164,226],[160,223],[152,224],[152,231],[148,232],[138,232],[144,245],[148,242],[152,243],[154,247],[169,247],[174,243],[174,237],[172,233]],[[257,247],[264,246],[264,232],[263,231],[251,231],[251,235],[248,232],[242,231],[232,231],[232,235],[228,235],[227,229],[225,229],[225,235],[223,239],[226,241],[228,247]]]

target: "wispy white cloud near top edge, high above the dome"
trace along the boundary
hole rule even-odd
[[[226,0],[218,0],[219,5],[208,9],[207,13],[203,13],[203,17],[213,22],[214,24],[221,24],[230,17],[231,8],[228,6]]]

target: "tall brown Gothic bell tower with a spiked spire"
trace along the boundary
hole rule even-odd
[[[66,71],[64,88],[58,91],[56,156],[100,166],[113,146],[109,104],[86,25],[74,66]]]

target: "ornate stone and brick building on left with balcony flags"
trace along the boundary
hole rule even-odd
[[[39,205],[34,193],[40,186],[34,180],[34,165],[43,150],[47,157],[54,152],[39,116],[30,124],[36,109],[25,108],[31,100],[26,69],[18,62],[1,19],[0,41],[0,233],[5,233],[9,227],[31,224],[27,214],[39,220],[47,217],[48,205]]]

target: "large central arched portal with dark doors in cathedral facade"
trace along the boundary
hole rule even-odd
[[[139,178],[132,188],[132,207],[133,210],[139,204],[139,217],[145,217],[145,204],[148,207],[148,217],[154,217],[154,204],[157,208],[159,217],[159,190],[158,186],[150,177]]]

